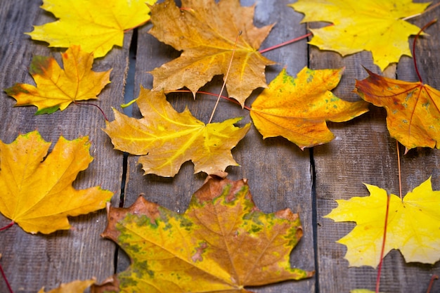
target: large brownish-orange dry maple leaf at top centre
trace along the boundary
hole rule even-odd
[[[167,0],[153,6],[150,34],[183,51],[176,60],[150,72],[153,89],[186,86],[195,94],[214,75],[226,74],[232,62],[226,88],[229,96],[243,106],[254,89],[266,87],[264,68],[274,64],[257,51],[272,25],[254,27],[253,17],[254,6],[241,7],[238,0],[219,4],[212,0],[183,0],[182,8]]]

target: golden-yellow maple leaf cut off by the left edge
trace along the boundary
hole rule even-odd
[[[67,216],[103,209],[113,195],[98,186],[72,187],[93,159],[87,137],[67,141],[61,136],[46,157],[50,145],[38,131],[10,144],[0,141],[0,212],[28,233],[67,230]]]

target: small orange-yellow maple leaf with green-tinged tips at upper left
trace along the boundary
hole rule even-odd
[[[53,57],[34,56],[30,74],[37,87],[31,84],[15,84],[5,89],[17,100],[16,106],[35,105],[36,114],[63,111],[77,100],[96,99],[104,86],[110,83],[110,71],[93,72],[93,53],[72,46],[61,53],[64,70]]]

